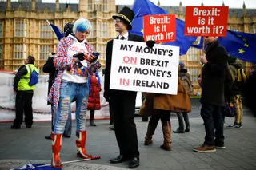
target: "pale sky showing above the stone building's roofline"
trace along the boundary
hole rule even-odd
[[[18,0],[14,0],[18,1]],[[96,0],[97,1],[97,0]],[[158,0],[150,0],[155,4],[158,3]],[[246,8],[256,10],[256,0],[224,0],[226,6],[230,8],[242,8],[243,1],[246,2]],[[42,2],[55,2],[55,0],[42,0]],[[78,3],[79,0],[60,0],[60,2],[71,2]],[[162,6],[178,6],[180,0],[160,0]],[[202,0],[182,0],[183,6],[200,6]],[[116,0],[117,5],[131,5],[134,3],[134,0]],[[221,6],[222,0],[203,0],[205,6]]]

